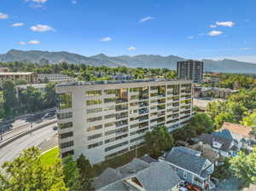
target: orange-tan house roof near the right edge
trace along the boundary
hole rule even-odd
[[[244,126],[241,124],[231,124],[225,122],[222,125],[222,130],[230,130],[233,134],[244,136],[246,138],[252,138],[250,135],[252,127]]]

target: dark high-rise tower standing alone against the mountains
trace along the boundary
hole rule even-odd
[[[201,83],[203,69],[202,61],[177,61],[177,78],[192,79],[194,83]]]

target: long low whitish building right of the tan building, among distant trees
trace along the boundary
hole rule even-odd
[[[76,78],[69,77],[62,73],[39,73],[38,83],[48,83],[48,82],[56,82],[56,83],[69,83],[76,82]]]

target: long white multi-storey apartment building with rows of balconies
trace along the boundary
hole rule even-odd
[[[133,80],[57,84],[62,157],[84,153],[91,164],[141,146],[148,130],[170,132],[189,123],[191,80]]]

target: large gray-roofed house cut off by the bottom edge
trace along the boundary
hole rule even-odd
[[[164,162],[149,163],[133,159],[131,163],[117,169],[108,168],[96,177],[96,190],[136,190],[136,191],[177,191],[181,179]]]

